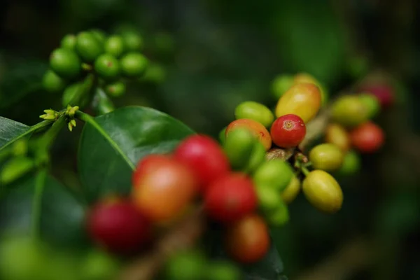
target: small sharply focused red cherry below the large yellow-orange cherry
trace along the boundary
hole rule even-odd
[[[270,134],[274,144],[282,148],[293,148],[302,142],[306,126],[299,116],[288,114],[274,120]]]

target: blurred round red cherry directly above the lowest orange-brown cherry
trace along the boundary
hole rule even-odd
[[[236,221],[253,212],[256,206],[253,182],[239,172],[217,179],[204,195],[204,208],[216,221]]]

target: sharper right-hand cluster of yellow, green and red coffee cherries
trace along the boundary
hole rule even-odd
[[[344,95],[330,102],[327,107],[328,92],[316,78],[308,73],[283,75],[272,83],[274,97],[278,100],[274,112],[258,102],[243,102],[237,106],[236,120],[225,127],[220,139],[227,146],[226,153],[232,167],[256,178],[258,201],[261,208],[266,210],[267,221],[272,221],[273,217],[267,214],[270,207],[277,205],[286,208],[284,205],[294,200],[300,192],[300,179],[305,197],[316,209],[334,213],[341,208],[342,190],[331,174],[348,175],[356,172],[360,165],[358,153],[373,153],[381,148],[384,133],[371,120],[377,116],[381,106],[389,106],[393,100],[389,87],[384,85],[375,87],[362,84],[359,88],[367,88],[370,92]],[[322,108],[328,113],[329,120],[325,143],[311,148],[306,157],[301,153],[299,145],[306,136],[307,123]],[[249,148],[244,136],[241,136],[246,134],[244,130],[258,139],[260,149]],[[255,158],[263,158],[263,153],[271,153],[279,148],[283,151],[293,149],[295,157],[291,157],[292,160],[288,162],[271,160],[262,163],[260,169],[266,168],[267,173],[252,168],[255,166]],[[251,156],[247,158],[246,153]],[[266,167],[269,165],[271,167]],[[292,166],[297,175],[293,174]],[[278,184],[276,188],[264,187],[270,180],[268,170],[275,174],[272,182]],[[286,213],[287,208],[283,210],[282,218],[278,214],[276,224],[287,221]]]

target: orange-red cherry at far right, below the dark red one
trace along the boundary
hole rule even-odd
[[[368,122],[350,132],[351,144],[362,153],[373,153],[384,144],[381,127]]]

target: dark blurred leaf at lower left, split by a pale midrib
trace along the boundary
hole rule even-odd
[[[29,233],[32,230],[35,186],[36,177],[26,176],[1,195],[0,232]],[[59,245],[82,244],[85,240],[83,204],[51,176],[43,181],[40,198],[38,232],[41,238]]]

